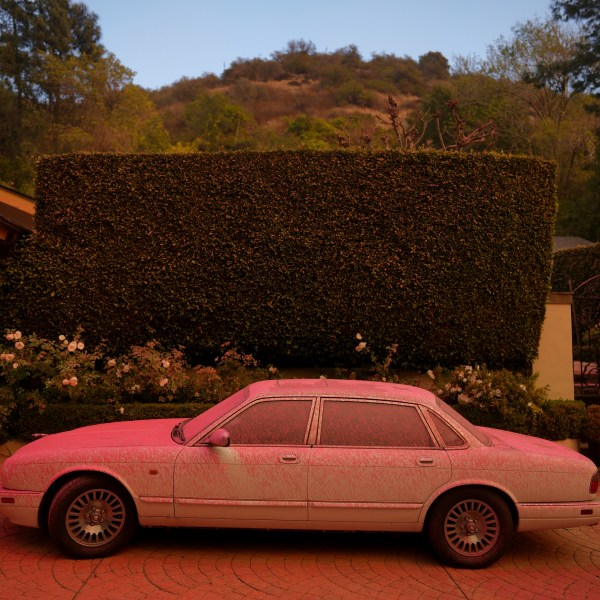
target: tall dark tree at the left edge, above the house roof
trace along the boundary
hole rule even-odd
[[[70,0],[0,0],[0,179],[31,191],[33,155],[62,114],[56,62],[98,58],[97,17]]]

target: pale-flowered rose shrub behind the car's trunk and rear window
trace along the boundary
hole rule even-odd
[[[464,365],[452,371],[428,371],[431,391],[454,405],[475,425],[535,434],[547,389],[536,376]]]

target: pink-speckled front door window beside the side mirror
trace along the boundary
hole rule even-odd
[[[227,421],[231,445],[304,443],[312,400],[257,402]]]

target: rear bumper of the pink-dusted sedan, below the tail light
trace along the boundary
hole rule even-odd
[[[517,531],[581,527],[600,522],[600,499],[591,502],[517,504]]]

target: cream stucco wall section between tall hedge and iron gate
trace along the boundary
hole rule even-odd
[[[539,374],[538,385],[550,386],[549,397],[553,400],[575,399],[571,304],[572,295],[569,293],[550,294],[539,354],[533,363],[533,372]]]

